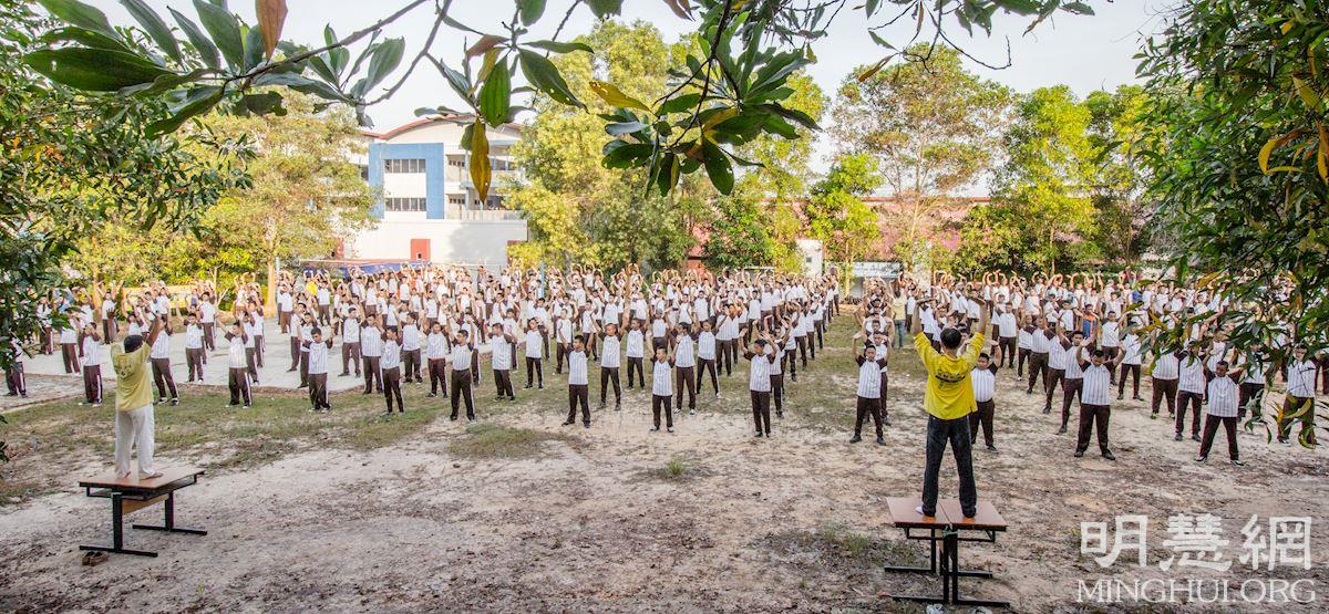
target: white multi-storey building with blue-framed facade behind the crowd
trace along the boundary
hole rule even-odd
[[[489,195],[470,182],[461,134],[473,116],[429,116],[387,132],[364,132],[361,175],[380,189],[373,229],[351,237],[340,256],[355,260],[431,260],[502,266],[508,246],[526,241],[526,221],[504,203],[521,126],[489,128]]]

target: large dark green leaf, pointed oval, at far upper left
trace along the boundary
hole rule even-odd
[[[35,51],[23,61],[57,84],[89,92],[114,92],[173,74],[133,53],[86,47]]]

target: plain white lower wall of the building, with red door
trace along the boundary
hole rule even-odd
[[[411,239],[429,239],[429,259],[498,267],[508,262],[508,242],[526,241],[525,219],[401,219],[388,215],[359,233],[348,249],[356,259],[408,259]]]

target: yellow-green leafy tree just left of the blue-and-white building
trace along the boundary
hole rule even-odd
[[[219,246],[253,254],[267,268],[267,300],[276,295],[278,260],[327,258],[346,237],[369,223],[373,193],[351,154],[363,150],[351,112],[315,110],[302,96],[286,98],[284,116],[211,116],[218,134],[247,134],[259,155],[253,185],[227,193],[206,218]]]

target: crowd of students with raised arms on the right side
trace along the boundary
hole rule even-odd
[[[990,312],[993,335],[975,356],[970,377],[975,401],[970,439],[977,441],[981,427],[987,449],[993,452],[993,396],[995,373],[1002,367],[1014,369],[1017,381],[1027,381],[1027,395],[1034,395],[1042,380],[1043,413],[1053,413],[1059,401],[1059,433],[1067,432],[1071,407],[1079,401],[1075,456],[1083,456],[1096,431],[1099,452],[1108,460],[1114,459],[1108,447],[1112,388],[1116,388],[1116,400],[1123,400],[1130,380],[1132,399],[1144,400],[1140,397],[1142,372],[1150,375],[1152,384],[1151,416],[1156,417],[1166,403],[1177,441],[1185,433],[1189,409],[1189,435],[1200,444],[1195,456],[1199,462],[1208,459],[1217,429],[1223,428],[1231,461],[1241,464],[1237,421],[1252,403],[1263,403],[1265,388],[1276,375],[1286,383],[1276,424],[1277,439],[1284,444],[1293,436],[1294,423],[1301,423],[1304,436],[1314,441],[1317,380],[1329,393],[1329,369],[1325,368],[1329,360],[1324,355],[1312,356],[1304,342],[1292,342],[1286,335],[1280,335],[1278,343],[1286,344],[1285,348],[1290,346],[1290,358],[1278,365],[1271,359],[1273,354],[1260,344],[1232,347],[1217,323],[1223,311],[1235,306],[1204,290],[1132,283],[1127,275],[1107,280],[1102,275],[1023,279],[990,272],[977,280],[937,275],[928,284],[909,279],[880,283],[869,290],[865,304],[880,306],[877,322],[869,319],[870,330],[882,331],[889,324],[917,330],[922,334],[920,339],[934,350],[941,350],[942,332],[948,328],[966,338],[986,335],[989,327],[978,319]],[[885,312],[896,316],[892,319],[882,315]],[[1142,326],[1146,322],[1163,326],[1151,327],[1146,334]],[[1144,335],[1155,335],[1181,322],[1189,323],[1184,347],[1148,350],[1164,343]],[[1205,413],[1203,435],[1201,405]]]

